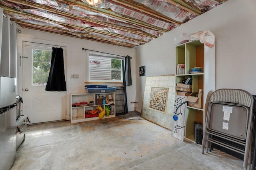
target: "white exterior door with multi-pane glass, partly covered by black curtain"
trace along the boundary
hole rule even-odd
[[[45,91],[53,45],[23,42],[23,114],[31,123],[66,120],[66,91]],[[66,47],[63,48],[66,77]]]

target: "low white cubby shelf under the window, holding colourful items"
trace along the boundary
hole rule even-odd
[[[112,95],[113,102],[110,102],[105,105],[95,105],[96,104],[96,97],[97,95],[100,96],[108,96]],[[91,121],[91,120],[98,120],[99,117],[90,117],[90,118],[85,118],[85,113],[88,110],[95,110],[97,106],[101,106],[103,109],[105,109],[106,105],[115,105],[115,93],[95,93],[95,94],[71,94],[70,95],[70,101],[71,101],[71,123],[78,123],[78,122],[83,122],[83,121]],[[72,104],[74,103],[80,103],[80,102],[87,102],[90,103],[91,101],[94,102],[94,105],[90,106],[78,106],[78,107],[72,107]],[[104,116],[102,119],[110,118],[110,117],[115,117],[116,116],[116,110],[114,109],[114,114],[109,115],[109,116]]]

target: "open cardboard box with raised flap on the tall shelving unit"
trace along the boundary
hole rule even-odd
[[[198,92],[191,93],[187,98],[186,101],[188,102],[188,106],[196,107],[199,109],[202,109],[203,107],[203,90],[200,89]],[[196,97],[196,94],[198,94],[198,97]]]

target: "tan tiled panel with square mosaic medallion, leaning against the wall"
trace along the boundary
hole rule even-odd
[[[175,75],[146,77],[141,117],[172,129]]]

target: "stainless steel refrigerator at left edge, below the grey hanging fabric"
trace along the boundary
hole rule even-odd
[[[16,156],[16,79],[0,76],[0,170],[9,170]]]

